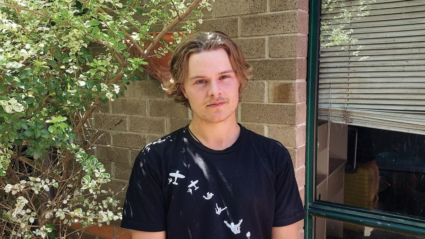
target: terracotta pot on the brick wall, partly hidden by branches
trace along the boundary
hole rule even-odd
[[[148,34],[152,36],[153,33],[148,33]],[[159,32],[155,32],[153,37],[155,38],[158,34]],[[173,41],[173,38],[172,38],[173,34],[174,34],[174,31],[169,31],[164,35],[164,37],[162,37],[162,39],[164,39],[164,42],[167,42],[167,43],[169,42],[176,43],[175,41]],[[179,34],[178,36],[181,37],[182,35]],[[130,53],[130,57],[141,57],[140,52],[136,49],[136,47],[131,45],[130,40],[125,40],[124,43],[128,48],[127,51],[128,53]],[[150,45],[150,42],[147,42],[146,45],[142,47],[142,49],[146,50],[149,45]],[[158,51],[158,48],[164,48],[164,44],[162,44],[161,42],[158,42],[154,50]],[[156,54],[156,53],[152,51],[151,55],[153,54]],[[142,65],[142,68],[144,70],[147,70],[147,72],[149,72],[153,77],[158,79],[158,81],[161,84],[164,84],[164,82],[168,82],[171,79],[171,74],[169,70],[171,54],[172,52],[168,51],[167,53],[165,53],[165,56],[161,56],[161,58],[158,58],[156,56],[149,57],[145,59],[145,61],[148,62],[149,65]],[[165,92],[167,94],[171,94],[171,92],[168,90]]]

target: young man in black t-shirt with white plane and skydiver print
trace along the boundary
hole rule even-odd
[[[184,39],[165,86],[193,120],[134,162],[121,227],[133,239],[295,239],[305,217],[286,148],[236,122],[250,65],[222,32]]]

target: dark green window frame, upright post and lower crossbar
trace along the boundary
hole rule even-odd
[[[314,172],[317,145],[317,90],[320,34],[320,0],[309,0],[309,37],[307,55],[307,118],[306,118],[306,191],[304,238],[313,239],[313,217],[323,217],[373,228],[425,236],[425,221],[380,210],[368,210],[323,200],[314,200]]]

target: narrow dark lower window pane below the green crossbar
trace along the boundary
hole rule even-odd
[[[313,217],[313,226],[315,228],[313,239],[423,239],[422,236],[339,222],[321,217]]]

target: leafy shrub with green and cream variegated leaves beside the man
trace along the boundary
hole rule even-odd
[[[65,238],[121,218],[110,175],[88,147],[91,114],[201,23],[207,0],[5,0],[0,3],[2,238]],[[138,14],[146,19],[135,20]],[[131,29],[131,31],[130,31]],[[150,29],[160,29],[153,38]],[[140,51],[130,58],[125,41]],[[150,44],[148,44],[150,42]],[[154,49],[157,42],[164,48]],[[107,51],[91,56],[88,45]],[[144,47],[149,45],[148,47]],[[79,222],[81,229],[73,229]]]

